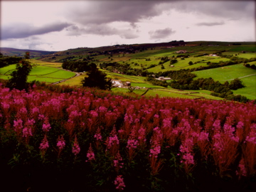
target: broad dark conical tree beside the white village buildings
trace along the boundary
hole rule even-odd
[[[106,73],[102,73],[97,69],[96,65],[89,71],[88,77],[82,79],[83,87],[98,87],[101,90],[110,90],[112,80],[106,77]]]

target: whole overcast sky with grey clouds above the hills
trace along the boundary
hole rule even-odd
[[[1,47],[256,41],[255,1],[0,1]]]

